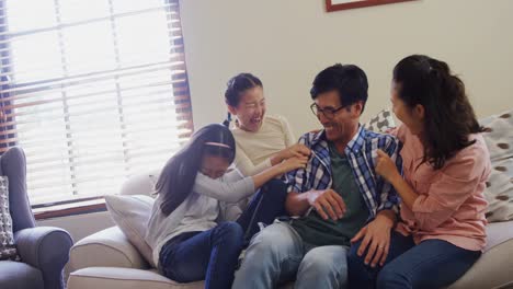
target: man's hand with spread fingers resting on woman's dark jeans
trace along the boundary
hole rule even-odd
[[[365,256],[365,264],[371,267],[376,267],[379,263],[380,266],[385,264],[390,247],[390,231],[394,227],[394,220],[390,217],[378,215],[376,219],[362,228],[360,232],[351,239],[351,243],[355,243],[363,239],[358,248],[358,256],[362,256],[367,250]]]

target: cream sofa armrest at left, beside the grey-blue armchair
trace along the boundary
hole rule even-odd
[[[148,263],[116,226],[77,242],[71,247],[69,266],[71,271],[87,267],[149,268]]]

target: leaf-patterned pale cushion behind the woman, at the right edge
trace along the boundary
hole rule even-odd
[[[480,120],[492,172],[485,196],[489,203],[487,219],[490,222],[513,220],[513,111]]]

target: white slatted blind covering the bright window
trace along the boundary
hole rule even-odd
[[[0,59],[33,206],[115,194],[193,128],[178,0],[0,0]]]

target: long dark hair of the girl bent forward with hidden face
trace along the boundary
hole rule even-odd
[[[215,146],[207,142],[221,143]],[[235,159],[236,143],[231,131],[220,125],[208,125],[192,136],[191,140],[166,163],[157,181],[156,189],[161,194],[160,209],[168,216],[191,194],[205,154]]]

